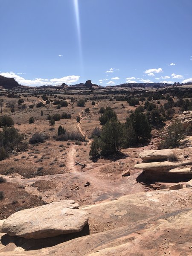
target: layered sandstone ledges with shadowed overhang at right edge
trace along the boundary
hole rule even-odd
[[[143,151],[139,156],[144,163],[139,163],[134,166],[135,169],[143,170],[137,177],[138,182],[178,183],[192,179],[192,160],[178,160],[175,151],[171,149]],[[169,157],[173,162],[167,161]],[[166,161],[154,162],[160,158]]]

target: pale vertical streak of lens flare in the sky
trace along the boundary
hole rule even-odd
[[[77,26],[77,36],[78,36],[78,44],[79,44],[79,58],[80,58],[80,70],[81,76],[83,75],[83,55],[82,55],[82,45],[81,45],[81,26],[80,26],[80,18],[79,18],[79,2],[78,0],[73,0],[75,16],[76,16],[76,26]]]

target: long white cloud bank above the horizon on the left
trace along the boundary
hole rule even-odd
[[[62,83],[71,84],[73,82],[77,82],[80,76],[64,76],[61,78],[53,78],[53,79],[42,79],[35,78],[32,80],[24,79],[21,76],[18,76],[14,72],[0,73],[1,76],[5,76],[8,78],[14,78],[19,84],[26,86],[41,86],[41,85],[60,85]]]

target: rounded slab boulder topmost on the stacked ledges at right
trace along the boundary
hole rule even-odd
[[[153,161],[162,161],[168,160],[174,152],[171,149],[160,149],[160,150],[146,150],[139,154],[139,157],[143,162],[153,162]]]

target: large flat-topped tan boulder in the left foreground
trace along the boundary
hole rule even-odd
[[[73,200],[62,200],[15,212],[3,222],[0,232],[28,239],[79,232],[88,218],[87,212],[78,207]]]

